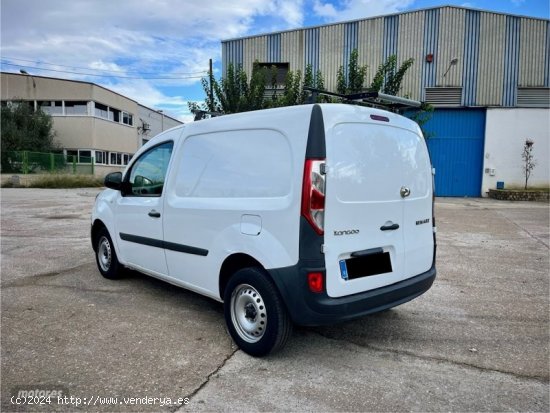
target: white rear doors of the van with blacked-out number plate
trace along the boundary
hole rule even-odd
[[[324,251],[331,297],[413,277],[433,259],[424,139],[400,116],[361,112],[360,121],[335,123],[326,134]]]

